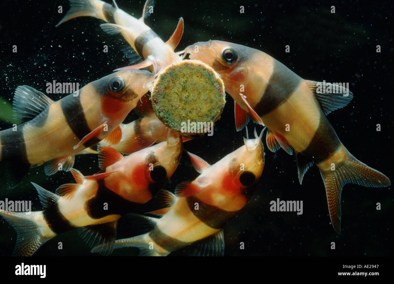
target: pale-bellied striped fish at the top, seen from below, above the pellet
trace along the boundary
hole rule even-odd
[[[143,9],[143,15],[139,19],[119,9],[116,4],[112,6],[101,0],[69,1],[71,3],[70,11],[56,26],[59,26],[67,20],[81,16],[99,18],[110,23],[102,25],[104,31],[111,35],[121,33],[130,46],[132,46],[143,59],[147,59],[147,57],[151,55],[156,65],[167,66],[177,58],[174,57],[175,53],[173,50],[182,36],[183,20],[182,31],[178,32],[177,42],[165,43],[144,23],[144,18],[150,15],[150,10],[154,6],[154,1],[147,0]]]

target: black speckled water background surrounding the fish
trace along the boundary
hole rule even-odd
[[[141,17],[144,2],[118,0],[119,8]],[[0,76],[1,129],[11,126],[10,103],[18,85],[30,85],[45,92],[46,82],[80,82],[84,86],[112,70],[126,66],[121,48],[127,45],[120,36],[101,30],[101,20],[81,17],[55,28],[69,3],[62,1],[1,2]],[[240,6],[245,13],[240,14]],[[331,5],[336,13],[330,13]],[[133,14],[134,13],[134,14]],[[309,2],[299,1],[164,1],[159,0],[146,23],[164,41],[185,21],[184,35],[176,51],[197,41],[218,39],[262,50],[291,68],[304,79],[349,82],[354,94],[351,103],[328,115],[338,137],[359,160],[393,180],[393,43],[392,2]],[[16,44],[17,53],[12,53]],[[103,45],[109,52],[103,53]],[[376,53],[376,45],[381,53]],[[290,53],[285,46],[290,45]],[[58,100],[56,94],[50,95]],[[203,103],[203,101],[202,101]],[[243,145],[245,131],[236,133],[234,102],[227,96],[214,135],[193,140],[185,149],[213,164]],[[128,121],[136,116],[131,114]],[[381,132],[376,131],[381,124]],[[249,124],[250,134],[253,123]],[[260,130],[261,127],[257,126]],[[265,137],[265,135],[264,135]],[[393,194],[391,188],[366,188],[348,184],[342,192],[342,234],[334,231],[328,214],[323,181],[316,166],[299,185],[294,156],[282,149],[271,153],[264,142],[265,168],[250,202],[224,227],[225,255],[261,256],[392,256]],[[99,170],[97,157],[77,157],[74,168],[85,175]],[[187,157],[165,189],[174,190],[198,173]],[[74,182],[70,173],[45,176],[35,168],[18,188],[2,192],[0,199],[32,200],[41,210],[33,181],[54,191]],[[270,212],[269,202],[302,200],[303,214]],[[381,210],[376,210],[376,203]],[[0,255],[11,255],[16,232],[4,219],[0,221]],[[119,222],[118,238],[136,233],[125,220]],[[63,242],[63,250],[58,250]],[[239,243],[245,249],[239,249]],[[331,250],[331,242],[336,249]],[[136,249],[115,250],[113,255],[136,255]],[[174,254],[182,254],[182,251]],[[35,255],[91,255],[76,231],[56,236]]]

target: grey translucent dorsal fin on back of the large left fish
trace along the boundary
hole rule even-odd
[[[22,124],[32,120],[54,101],[29,86],[18,86],[13,100],[14,121]]]

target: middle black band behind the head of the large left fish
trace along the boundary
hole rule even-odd
[[[74,97],[73,95],[69,95],[60,100],[60,105],[64,117],[71,127],[72,132],[78,137],[79,140],[82,140],[82,138],[91,132],[91,129],[89,128],[89,125],[87,125],[80,96]],[[84,146],[88,148],[98,142],[100,142],[100,139],[93,137],[86,141]]]

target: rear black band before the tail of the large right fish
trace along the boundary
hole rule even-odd
[[[320,111],[320,122],[318,129],[310,140],[308,147],[301,152],[312,159],[316,164],[330,157],[335,153],[341,142],[335,133],[335,130],[328,122],[327,118]]]

